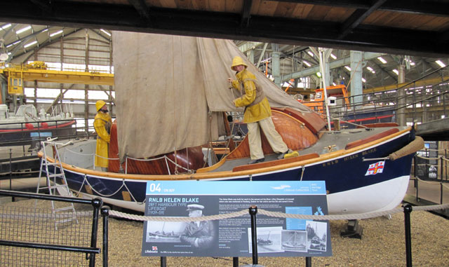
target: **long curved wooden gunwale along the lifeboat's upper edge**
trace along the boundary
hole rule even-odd
[[[150,181],[151,180],[194,180],[194,179],[201,180],[201,179],[220,179],[220,178],[226,179],[229,177],[240,177],[240,176],[247,177],[248,175],[276,172],[279,170],[288,170],[288,169],[292,169],[295,167],[311,165],[314,163],[319,163],[322,161],[330,160],[331,158],[341,158],[344,155],[351,154],[356,151],[361,151],[370,146],[375,146],[376,144],[380,144],[389,139],[394,139],[395,137],[404,135],[404,134],[406,134],[406,132],[410,132],[410,130],[412,130],[412,128],[408,127],[406,129],[399,130],[398,132],[395,132],[391,135],[387,135],[386,137],[382,137],[380,139],[373,140],[372,142],[368,142],[366,144],[361,144],[361,145],[356,146],[351,149],[340,149],[337,151],[332,151],[330,153],[323,154],[323,155],[319,156],[318,158],[311,158],[308,160],[301,160],[301,161],[293,162],[293,163],[284,163],[284,164],[281,163],[281,164],[275,165],[275,166],[260,167],[259,169],[242,170],[242,171],[238,171],[238,172],[232,172],[232,170],[227,170],[227,171],[222,171],[222,172],[197,172],[194,174],[156,175],[156,174],[122,174],[122,173],[116,173],[116,172],[101,172],[98,170],[88,170],[88,169],[85,169],[82,167],[76,167],[74,165],[69,165],[67,163],[62,163],[62,167],[65,170],[79,172],[82,174],[90,174],[90,175],[94,175],[97,177],[112,178],[112,179],[128,179],[128,180],[150,180]],[[41,151],[39,151],[38,156],[39,156],[39,158],[42,158],[43,153]],[[51,158],[48,156],[47,156],[47,160],[51,163],[55,162],[54,158]]]

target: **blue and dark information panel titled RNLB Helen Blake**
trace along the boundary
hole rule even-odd
[[[200,217],[258,209],[327,214],[326,185],[318,182],[147,183],[145,216]],[[260,256],[332,256],[328,221],[257,214]],[[251,256],[250,215],[201,222],[145,221],[142,256]]]

